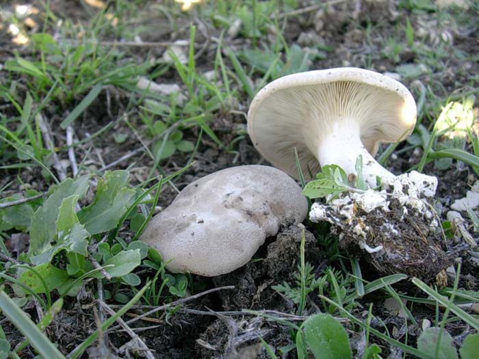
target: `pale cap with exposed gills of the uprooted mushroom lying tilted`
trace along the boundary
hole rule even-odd
[[[318,147],[333,122],[354,120],[374,156],[382,142],[411,134],[416,106],[402,83],[361,68],[331,68],[287,75],[259,91],[248,111],[248,133],[273,165],[298,178],[294,148],[305,177],[320,170]],[[311,174],[311,176],[310,176]]]

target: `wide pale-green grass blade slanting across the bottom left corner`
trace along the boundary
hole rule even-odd
[[[3,315],[25,335],[31,346],[43,358],[65,358],[62,352],[49,341],[49,338],[37,328],[28,315],[4,291],[0,291],[0,309]]]

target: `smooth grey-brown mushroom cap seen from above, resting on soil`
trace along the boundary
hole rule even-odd
[[[285,172],[226,168],[187,185],[141,239],[169,271],[218,276],[246,264],[280,224],[302,222],[307,211],[300,186]]]

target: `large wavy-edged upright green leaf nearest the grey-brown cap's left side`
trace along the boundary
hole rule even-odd
[[[127,187],[129,172],[106,172],[96,187],[95,200],[78,213],[80,223],[92,235],[115,228],[135,194]]]

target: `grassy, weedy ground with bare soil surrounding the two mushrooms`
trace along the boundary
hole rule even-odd
[[[1,3],[0,355],[476,358],[478,17],[475,1]],[[308,220],[229,274],[169,273],[139,240],[151,217],[198,178],[269,165],[246,131],[264,85],[344,66],[415,98],[413,134],[376,158],[439,179],[442,281],[380,274]]]

